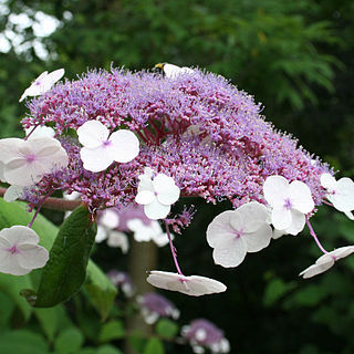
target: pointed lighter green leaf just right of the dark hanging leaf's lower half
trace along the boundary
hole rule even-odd
[[[92,304],[101,314],[102,321],[104,321],[111,312],[117,291],[110,279],[93,262],[88,263],[87,267],[85,289],[90,294]]]

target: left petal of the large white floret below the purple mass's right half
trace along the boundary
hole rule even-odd
[[[209,223],[207,229],[207,241],[210,247],[215,248],[222,239],[232,239],[236,230],[230,225],[235,210],[228,210],[219,214]]]

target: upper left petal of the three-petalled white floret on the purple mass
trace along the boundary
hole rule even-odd
[[[100,147],[108,136],[108,128],[100,121],[87,121],[77,129],[79,142],[87,148]]]

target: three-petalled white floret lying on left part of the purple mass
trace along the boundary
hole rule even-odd
[[[121,129],[110,135],[108,128],[98,121],[87,121],[77,129],[84,168],[93,173],[105,170],[114,162],[128,163],[139,153],[135,134]]]

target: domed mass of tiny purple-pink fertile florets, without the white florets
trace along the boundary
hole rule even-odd
[[[168,79],[125,70],[88,72],[28,106],[23,126],[54,126],[70,157],[69,167],[45,176],[37,194],[61,188],[80,191],[93,208],[127,205],[136,195],[137,176],[150,167],[171,176],[183,196],[211,202],[227,198],[235,207],[264,202],[262,185],[271,175],[305,183],[316,205],[324,197],[320,175],[327,165],[274,131],[252,96],[211,73],[195,70]],[[90,119],[112,132],[133,131],[140,139],[139,155],[103,173],[85,170],[77,139],[65,135],[75,135]]]

